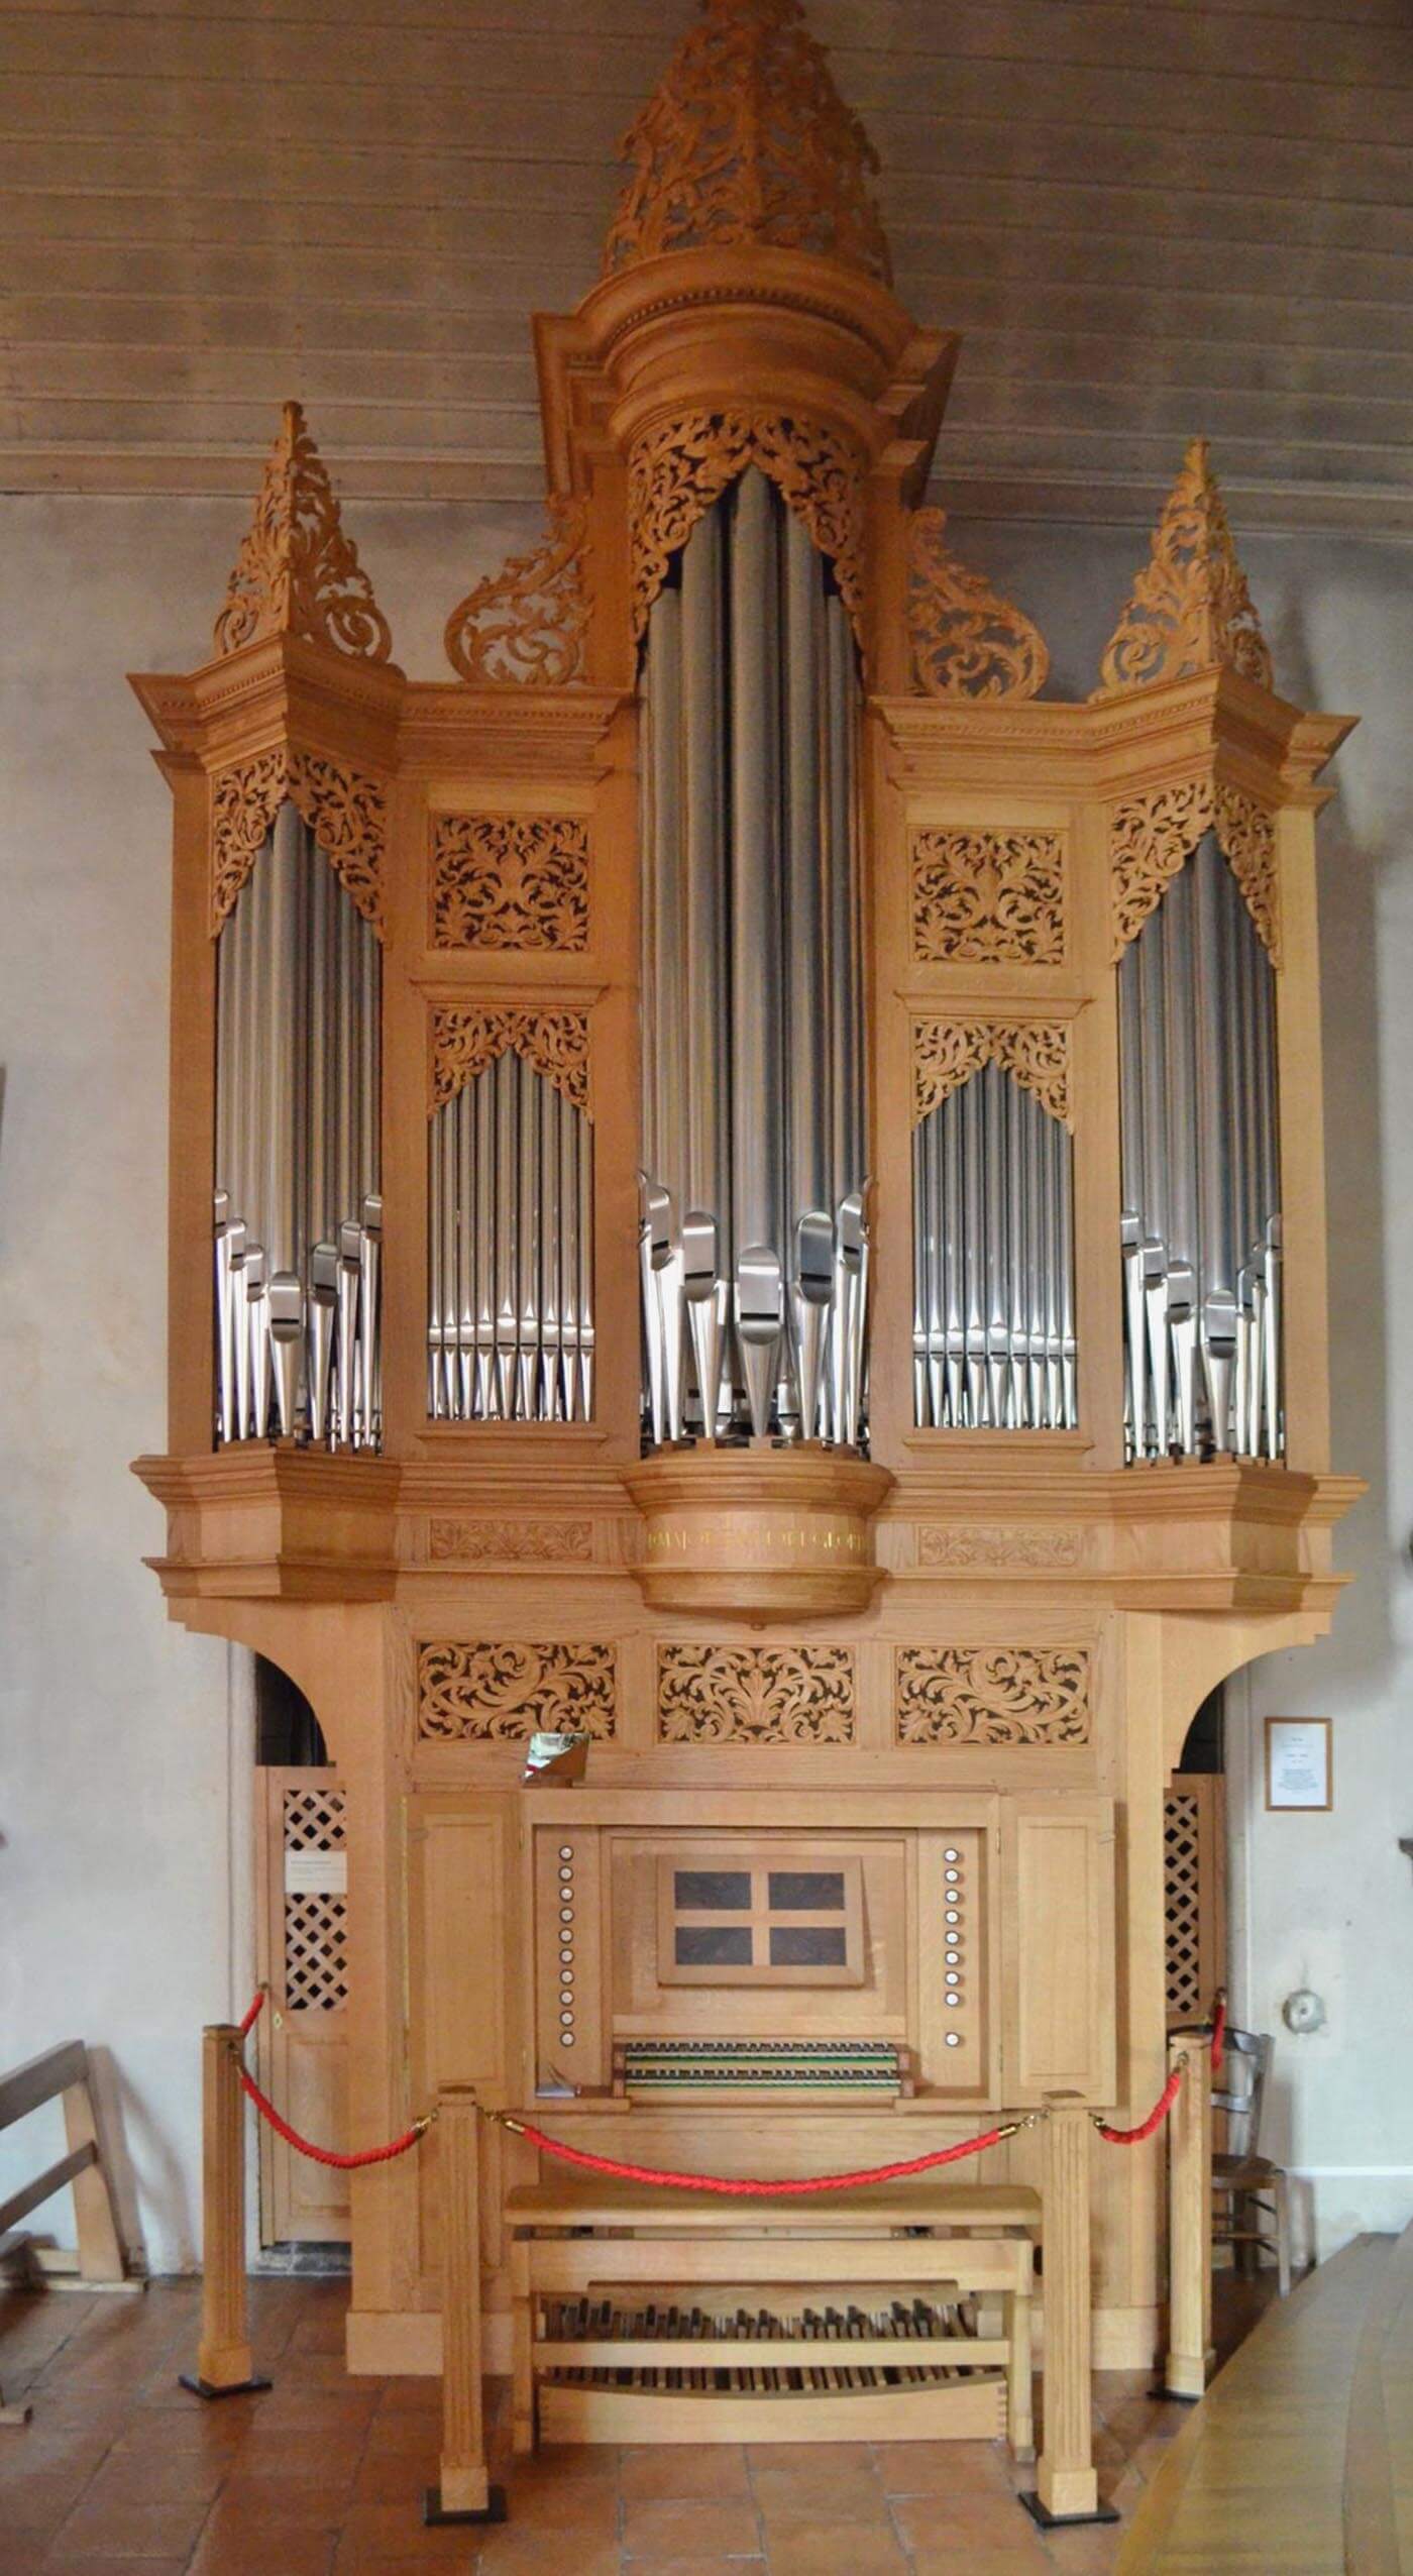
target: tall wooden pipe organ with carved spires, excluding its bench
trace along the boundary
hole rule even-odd
[[[535,322],[548,533],[453,608],[456,677],[391,662],[288,404],[214,659],[136,680],[175,799],[139,1471],[172,1615],[291,1672],[347,1788],[353,2136],[461,2081],[808,2174],[1163,2081],[1168,1770],[1328,1625],[1351,1494],[1346,721],[1274,693],[1202,443],[1094,696],[1040,696],[924,505],[955,340],[795,0],[705,0],[628,160]],[[579,1780],[522,1780],[543,1734]],[[535,2159],[486,2164],[507,2367]],[[1094,2161],[1109,2367],[1156,2349],[1161,2190],[1161,2141]],[[438,2352],[432,2133],[353,2179],[350,2362]]]

